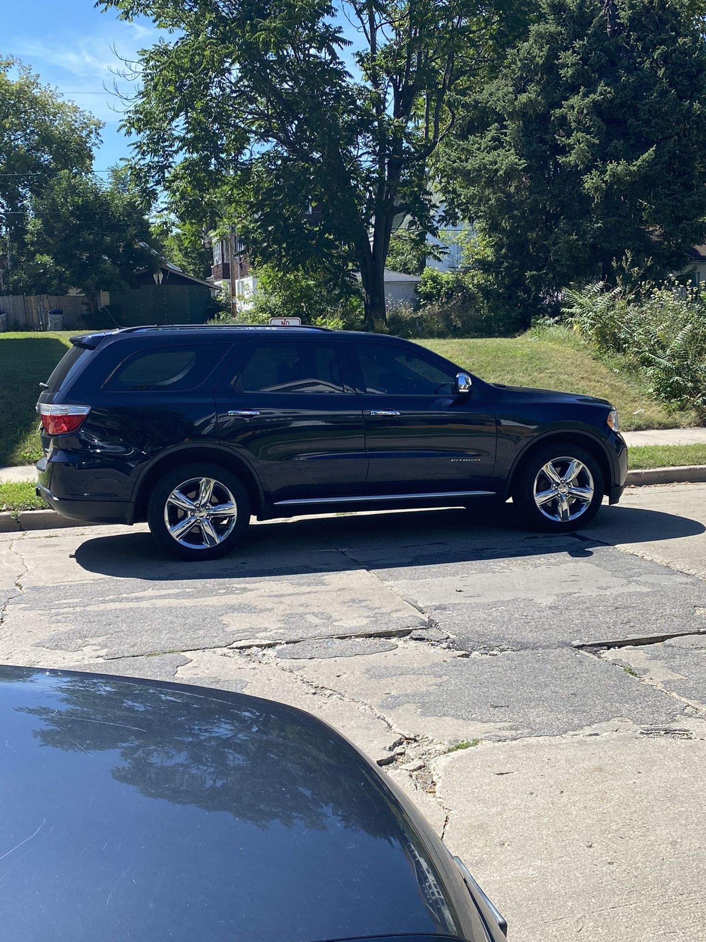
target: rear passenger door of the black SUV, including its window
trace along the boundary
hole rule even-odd
[[[363,493],[361,403],[342,347],[325,334],[252,339],[218,383],[220,441],[249,462],[271,503]]]

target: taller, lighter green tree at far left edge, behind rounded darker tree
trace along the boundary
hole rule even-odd
[[[24,252],[30,201],[61,171],[90,170],[102,126],[18,59],[0,57],[0,291]]]

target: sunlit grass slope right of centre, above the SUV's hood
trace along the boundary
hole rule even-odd
[[[670,413],[645,392],[639,379],[594,359],[585,344],[567,331],[524,333],[520,337],[480,340],[420,340],[489,382],[538,386],[609,399],[618,409],[620,428],[678,429],[698,424],[691,413]]]

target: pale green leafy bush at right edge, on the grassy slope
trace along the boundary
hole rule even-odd
[[[573,326],[639,369],[651,395],[706,415],[706,303],[697,290],[674,280],[639,293],[589,284],[568,301]]]

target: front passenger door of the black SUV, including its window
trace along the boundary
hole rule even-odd
[[[371,495],[492,490],[495,414],[480,386],[457,393],[456,368],[403,344],[350,345],[370,459]]]

